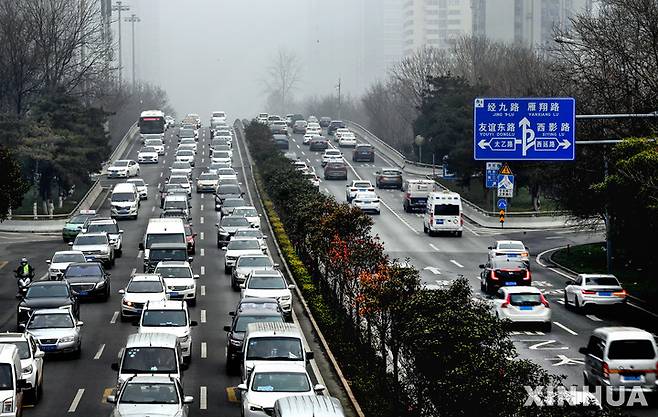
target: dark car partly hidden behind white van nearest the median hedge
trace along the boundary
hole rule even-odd
[[[227,333],[226,343],[226,369],[237,371],[242,359],[242,344],[249,323],[278,322],[283,323],[283,315],[279,311],[258,308],[239,309],[233,315],[230,326],[224,326]]]

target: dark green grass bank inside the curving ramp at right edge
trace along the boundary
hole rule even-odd
[[[552,259],[575,272],[605,273],[607,270],[605,242],[571,246],[556,251]],[[635,268],[618,257],[612,273],[632,295],[658,307],[658,286],[649,271]]]

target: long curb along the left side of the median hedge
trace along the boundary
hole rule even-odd
[[[241,121],[240,121],[240,124],[242,124]],[[242,140],[244,140],[244,131],[243,131],[243,129],[244,129],[243,126],[241,126],[241,129],[239,129],[240,138]],[[245,150],[248,154],[249,153],[249,148],[247,147],[246,142],[244,142],[244,144],[245,144]],[[252,172],[252,176],[253,176],[253,172]],[[255,178],[254,178],[254,190],[256,191],[256,195],[258,196],[258,199],[262,203],[263,200],[261,198],[260,190],[258,189]],[[265,211],[265,207],[263,207],[263,211]],[[293,282],[295,282],[295,294],[297,295],[297,298],[299,298],[299,300],[301,301],[302,306],[304,307],[304,312],[306,313],[306,315],[308,316],[309,321],[311,322],[311,326],[313,327],[313,331],[317,334],[318,338],[320,339],[320,344],[322,345],[322,348],[324,349],[325,354],[329,358],[329,362],[331,363],[331,366],[334,368],[334,372],[338,376],[338,379],[340,380],[340,383],[343,386],[343,389],[345,390],[345,393],[347,394],[347,397],[349,398],[350,403],[351,403],[352,407],[354,408],[354,411],[356,411],[356,414],[359,417],[365,417],[365,414],[361,410],[361,406],[359,405],[358,401],[356,400],[356,397],[354,396],[354,393],[352,392],[352,389],[349,385],[349,382],[347,382],[347,379],[345,379],[345,376],[343,375],[343,371],[340,369],[340,366],[338,365],[338,361],[336,360],[335,356],[331,352],[331,348],[329,347],[329,344],[327,343],[327,341],[324,337],[324,334],[322,334],[322,331],[320,330],[320,327],[318,326],[317,322],[315,321],[315,318],[313,317],[313,314],[311,313],[311,310],[309,309],[308,304],[306,303],[306,299],[302,295],[302,292],[299,289],[299,285],[297,285],[297,282],[295,281],[295,278],[292,275],[292,273],[290,271],[290,268],[288,267],[288,262],[286,261],[286,258],[283,256],[283,254],[281,252],[281,248],[279,247],[278,239],[276,238],[276,236],[274,236],[274,229],[272,228],[272,225],[270,223],[270,218],[267,215],[266,211],[265,211],[265,216],[264,217],[265,217],[265,221],[267,222],[267,225],[269,226],[270,230],[272,230],[272,235],[273,235],[272,236],[272,238],[273,238],[272,241],[274,242],[274,246],[276,247],[276,250],[279,253],[279,257],[281,258],[281,262],[283,263],[283,267],[285,268],[286,273],[288,274],[288,277],[290,277],[290,279]]]

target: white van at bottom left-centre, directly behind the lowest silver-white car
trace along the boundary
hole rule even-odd
[[[128,336],[112,369],[119,373],[117,387],[133,375],[166,375],[179,381],[183,353],[178,338],[171,333],[137,333]]]

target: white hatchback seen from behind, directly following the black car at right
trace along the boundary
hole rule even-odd
[[[501,287],[494,299],[496,316],[514,323],[538,323],[551,331],[551,307],[539,288]]]

